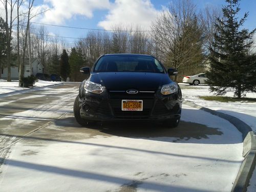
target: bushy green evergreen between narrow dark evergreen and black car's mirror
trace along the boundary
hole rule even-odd
[[[79,69],[84,67],[84,60],[81,54],[81,51],[78,49],[76,51],[75,48],[71,49],[71,54],[69,56],[70,63],[70,76],[72,81],[81,81],[84,79],[84,76],[80,74]]]

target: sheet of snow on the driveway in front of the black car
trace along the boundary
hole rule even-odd
[[[53,129],[60,138],[69,134],[61,126],[46,127],[31,136],[33,144],[23,140],[12,147],[0,175],[1,190],[230,191],[243,160],[241,134],[228,121],[186,105],[182,117],[211,122],[215,128],[207,129],[219,134],[177,138],[177,128],[170,136],[123,137],[106,130],[93,137],[79,133],[80,140],[40,140]]]

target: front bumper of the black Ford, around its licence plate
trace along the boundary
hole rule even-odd
[[[81,91],[81,90],[80,90]],[[122,111],[122,99],[143,100],[143,111]],[[79,94],[80,115],[96,121],[142,120],[162,121],[180,118],[181,91],[170,95],[156,93],[127,94],[104,91],[102,94],[84,92]]]

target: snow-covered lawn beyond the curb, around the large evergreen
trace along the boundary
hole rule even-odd
[[[216,110],[228,115],[239,118],[247,123],[256,133],[256,102],[236,101],[236,102],[220,102],[207,101],[200,99],[199,96],[213,96],[209,92],[209,86],[187,86],[185,83],[179,83],[182,89],[182,96],[185,100],[191,101],[205,108]],[[232,97],[233,91],[228,92],[225,96]],[[246,97],[256,98],[256,93],[247,93]],[[256,169],[250,179],[248,192],[256,191]]]

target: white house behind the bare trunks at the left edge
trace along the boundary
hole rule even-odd
[[[38,59],[32,60],[32,72],[35,76],[37,73],[42,73],[44,71],[44,67],[40,63]],[[17,80],[18,79],[18,67],[14,66],[11,67],[11,79]],[[7,79],[8,70],[7,67],[1,69],[1,78]],[[30,76],[30,66],[29,66],[29,59],[25,59],[24,61],[24,77]]]

